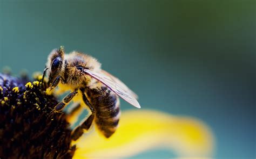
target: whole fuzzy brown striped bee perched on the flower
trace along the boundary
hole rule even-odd
[[[90,55],[76,51],[65,54],[63,47],[53,49],[48,56],[43,78],[45,74],[48,76],[46,92],[50,93],[57,85],[64,91],[71,91],[55,106],[55,112],[62,111],[75,96],[79,96],[76,102],[83,102],[91,112],[73,130],[73,140],[77,140],[92,123],[109,138],[116,131],[120,118],[118,97],[140,108],[138,96],[117,77],[101,69],[101,64]]]

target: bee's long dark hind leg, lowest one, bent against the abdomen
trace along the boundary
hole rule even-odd
[[[83,89],[81,89],[81,91],[84,92]],[[95,109],[92,107],[92,105],[90,104],[89,100],[86,98],[84,93],[83,93],[83,100],[84,100],[84,103],[91,110],[91,115],[86,120],[82,121],[82,124],[80,124],[78,127],[75,128],[75,130],[71,135],[71,138],[73,140],[77,140],[78,138],[80,138],[80,136],[82,136],[84,133],[83,130],[84,129],[88,130],[92,125],[93,119],[95,118]]]

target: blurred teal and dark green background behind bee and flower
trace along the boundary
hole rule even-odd
[[[217,158],[255,157],[255,1],[0,0],[0,68],[53,48],[95,56],[143,109],[203,120]],[[122,100],[122,110],[134,109]],[[170,157],[151,150],[137,157]]]

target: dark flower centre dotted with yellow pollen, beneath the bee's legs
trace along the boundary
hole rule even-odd
[[[0,158],[72,158],[66,114],[39,80],[0,74]]]

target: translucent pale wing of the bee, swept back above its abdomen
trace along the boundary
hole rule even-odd
[[[140,105],[134,95],[131,94],[131,92],[127,91],[127,86],[123,84],[123,82],[120,84],[116,81],[116,77],[112,78],[109,75],[104,75],[100,73],[96,73],[94,71],[84,69],[83,70],[86,75],[91,76],[92,78],[97,79],[97,81],[103,83],[106,85],[109,89],[111,89],[113,92],[115,92],[119,97],[123,98],[126,102],[130,103],[131,105],[140,108]],[[118,79],[119,81],[119,79]],[[124,86],[125,85],[125,86]]]

